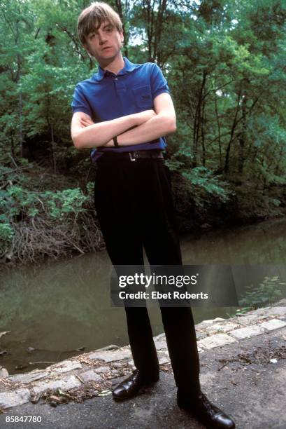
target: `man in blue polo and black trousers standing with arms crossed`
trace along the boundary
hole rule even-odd
[[[122,23],[110,6],[93,3],[78,18],[78,35],[99,62],[73,95],[71,135],[77,149],[91,148],[98,163],[96,212],[114,266],[182,264],[164,135],[176,131],[169,87],[157,64],[122,57]],[[234,428],[199,383],[199,355],[190,307],[162,307],[179,407],[209,428]],[[115,400],[134,397],[159,379],[159,362],[145,307],[125,307],[136,370],[113,390]]]

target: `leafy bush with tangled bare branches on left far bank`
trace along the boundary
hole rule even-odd
[[[85,192],[78,187],[41,191],[27,174],[6,173],[0,181],[0,257],[27,262],[102,247],[92,184]]]

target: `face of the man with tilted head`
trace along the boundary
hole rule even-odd
[[[99,64],[108,64],[120,53],[123,34],[110,24],[102,22],[99,29],[87,35],[85,48]]]

